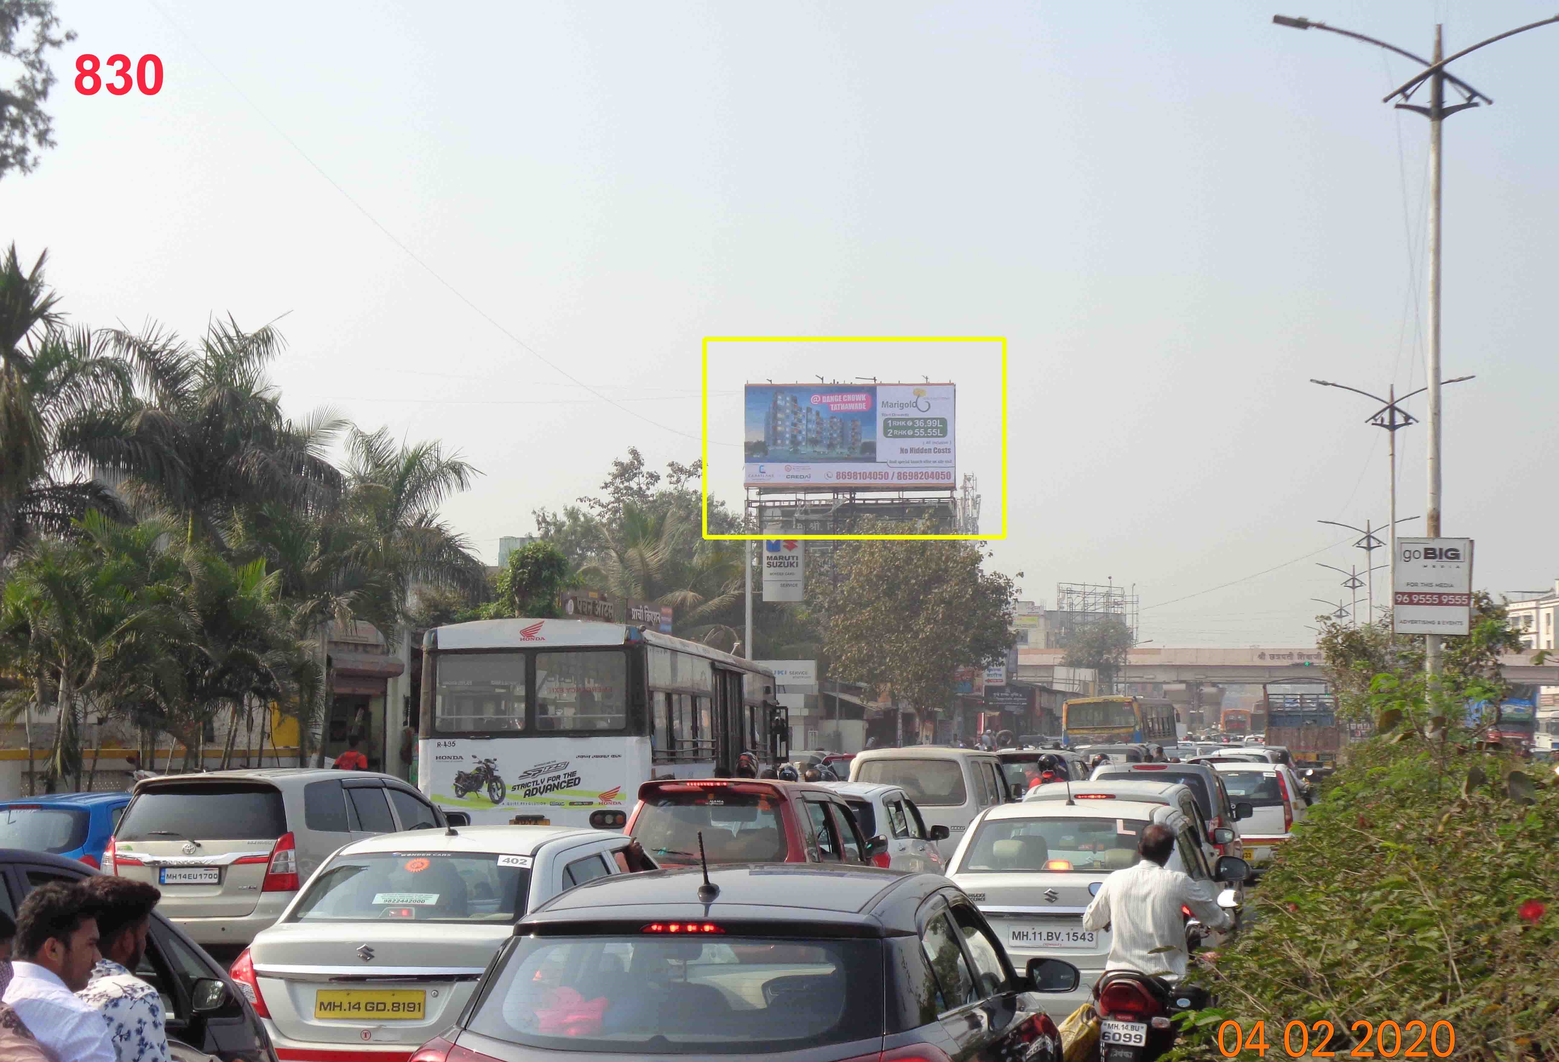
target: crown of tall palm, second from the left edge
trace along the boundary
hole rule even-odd
[[[265,376],[282,349],[273,327],[245,332],[229,317],[193,348],[156,327],[109,335],[136,370],[137,393],[61,441],[115,477],[137,512],[171,513],[186,541],[229,554],[228,524],[249,507],[332,504],[341,476],[326,451],[346,423],[329,410],[302,421],[282,413]]]

